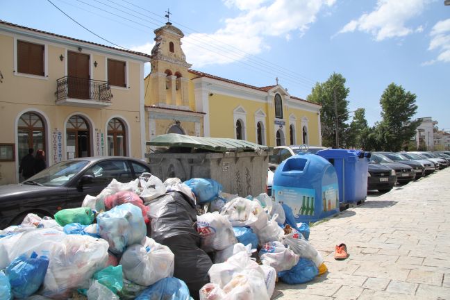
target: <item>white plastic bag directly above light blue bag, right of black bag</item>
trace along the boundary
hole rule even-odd
[[[220,214],[226,216],[231,225],[237,227],[261,228],[267,223],[267,214],[260,203],[242,197],[227,202]]]

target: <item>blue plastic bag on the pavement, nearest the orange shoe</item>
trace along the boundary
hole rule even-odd
[[[278,272],[278,278],[283,283],[299,284],[312,281],[319,274],[319,269],[313,261],[306,258],[300,258],[299,263],[294,265],[289,271]]]

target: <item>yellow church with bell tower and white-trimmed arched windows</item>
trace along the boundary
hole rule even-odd
[[[151,72],[144,79],[147,138],[181,133],[236,138],[274,147],[321,146],[321,106],[291,96],[281,85],[256,87],[190,69],[183,32],[156,29]]]

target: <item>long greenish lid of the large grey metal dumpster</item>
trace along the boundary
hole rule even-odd
[[[147,146],[163,147],[185,147],[205,149],[216,152],[231,151],[267,151],[269,147],[248,142],[245,140],[236,140],[231,138],[204,138],[191,135],[181,135],[178,133],[167,133],[165,135],[156,135],[155,138],[148,141]]]

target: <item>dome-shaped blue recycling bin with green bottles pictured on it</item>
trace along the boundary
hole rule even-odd
[[[299,153],[274,173],[272,197],[292,209],[295,222],[317,222],[340,212],[338,176],[325,158]]]

